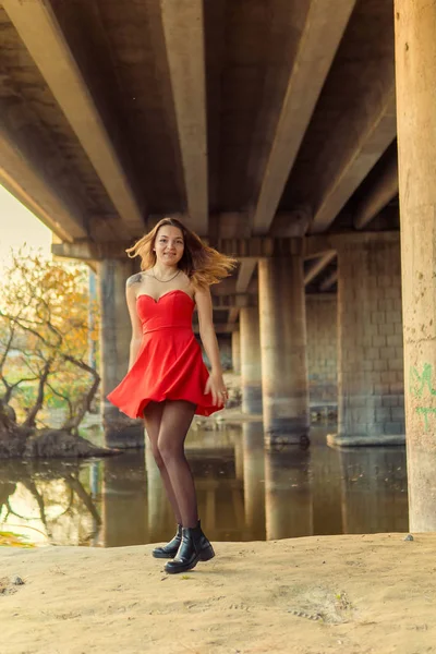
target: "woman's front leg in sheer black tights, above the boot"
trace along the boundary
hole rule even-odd
[[[183,526],[198,522],[194,479],[184,455],[184,440],[195,413],[195,404],[167,400],[164,407],[157,447],[168,472],[180,508]]]

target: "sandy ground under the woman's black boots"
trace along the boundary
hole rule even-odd
[[[436,534],[403,538],[217,543],[173,577],[152,545],[1,548],[0,652],[436,652]]]

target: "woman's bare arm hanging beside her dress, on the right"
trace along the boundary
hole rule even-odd
[[[195,292],[195,302],[198,311],[199,337],[211,366],[205,392],[211,392],[214,404],[223,404],[227,399],[227,390],[222,379],[222,367],[219,356],[218,340],[214,328],[214,314],[209,289],[197,290]]]

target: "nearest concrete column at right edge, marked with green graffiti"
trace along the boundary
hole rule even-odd
[[[409,517],[436,531],[436,4],[396,0]]]

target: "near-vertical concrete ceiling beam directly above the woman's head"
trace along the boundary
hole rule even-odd
[[[207,234],[208,180],[203,0],[161,0],[190,228]]]

